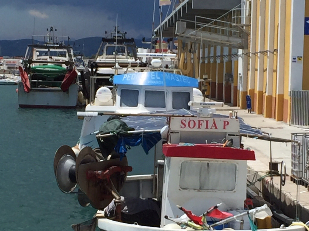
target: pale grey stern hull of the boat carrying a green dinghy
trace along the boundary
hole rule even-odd
[[[72,84],[68,91],[60,88],[31,88],[29,93],[18,84],[19,107],[28,108],[75,108],[77,107],[78,84]]]

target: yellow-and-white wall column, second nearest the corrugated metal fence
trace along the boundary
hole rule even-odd
[[[272,117],[272,94],[273,94],[273,50],[274,50],[274,29],[275,29],[275,1],[269,1],[268,3],[268,37],[267,41],[267,50],[268,59],[267,59],[267,73],[266,73],[266,95],[265,95],[265,107],[264,107],[264,116],[266,118]],[[277,39],[277,38],[276,38]]]

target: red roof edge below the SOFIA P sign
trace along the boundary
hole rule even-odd
[[[167,157],[255,160],[253,150],[222,147],[222,145],[212,144],[164,144],[162,151]]]

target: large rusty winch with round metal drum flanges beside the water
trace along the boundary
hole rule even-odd
[[[89,204],[96,209],[105,208],[119,195],[127,172],[132,171],[126,157],[105,158],[91,147],[84,147],[78,155],[68,145],[55,153],[54,173],[60,190],[77,193],[81,206]],[[76,187],[78,191],[74,192]]]

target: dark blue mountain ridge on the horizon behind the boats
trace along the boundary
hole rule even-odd
[[[138,48],[150,48],[150,44],[143,44],[142,39],[134,40]],[[74,53],[80,52],[81,54],[84,54],[85,57],[91,57],[98,51],[101,41],[102,37],[87,37],[78,40],[70,40],[69,44],[73,46]],[[37,41],[35,41],[35,43],[36,42]],[[0,40],[0,56],[23,57],[25,55],[28,44],[32,44],[31,39]]]

